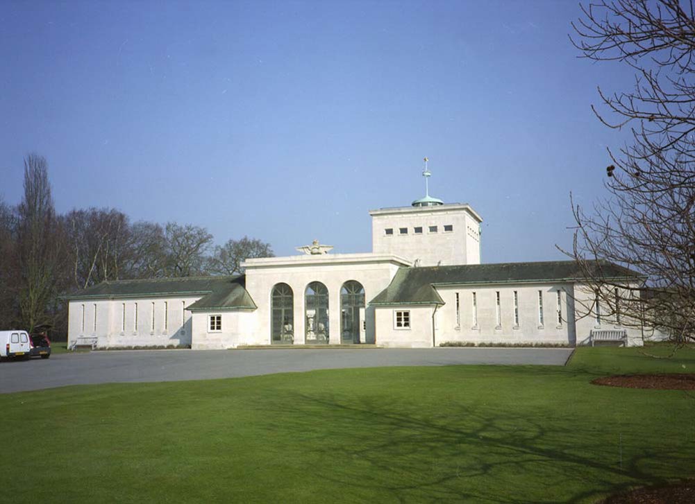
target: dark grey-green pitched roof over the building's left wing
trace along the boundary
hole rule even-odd
[[[117,299],[202,294],[188,310],[256,308],[245,289],[245,276],[191,276],[112,280],[82,289],[63,299]]]

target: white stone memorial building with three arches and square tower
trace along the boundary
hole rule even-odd
[[[425,164],[425,182],[430,176]],[[102,282],[68,296],[68,344],[97,347],[443,343],[579,345],[602,317],[573,261],[480,263],[482,217],[429,195],[372,216],[372,251],[249,259],[242,276]],[[603,274],[637,273],[601,263]]]

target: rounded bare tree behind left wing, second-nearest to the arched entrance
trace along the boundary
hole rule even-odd
[[[206,228],[169,222],[164,230],[165,271],[167,276],[204,274],[206,253],[213,235]]]

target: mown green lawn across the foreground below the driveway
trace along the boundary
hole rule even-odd
[[[0,395],[0,501],[593,502],[695,476],[695,394],[589,384],[636,371],[695,351]]]

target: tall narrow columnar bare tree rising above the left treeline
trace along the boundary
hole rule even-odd
[[[21,281],[19,315],[33,330],[52,324],[58,295],[58,270],[63,242],[51,198],[48,165],[42,156],[24,159],[24,199],[18,208],[17,253]]]

